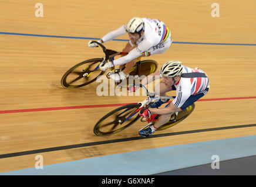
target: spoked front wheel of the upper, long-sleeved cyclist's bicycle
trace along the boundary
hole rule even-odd
[[[102,60],[103,58],[93,58],[76,64],[63,75],[61,85],[64,88],[72,89],[80,88],[96,81],[99,75],[104,74],[104,71],[99,70],[99,68],[95,70]]]

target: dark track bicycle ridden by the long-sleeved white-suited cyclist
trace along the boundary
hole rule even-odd
[[[128,53],[117,52],[114,50],[106,49],[106,47],[103,46],[103,44],[97,41],[93,41],[93,42],[97,43],[102,48],[103,53],[105,53],[105,57],[91,58],[89,60],[82,61],[82,63],[76,64],[72,68],[70,68],[63,75],[60,81],[61,85],[64,88],[69,88],[69,89],[80,88],[82,86],[86,86],[96,81],[97,77],[105,74],[105,71],[101,71],[99,69],[100,63],[106,63],[108,60],[113,61],[114,57],[116,56],[128,54]],[[128,78],[131,78],[131,79],[133,78],[134,79],[133,82],[135,82],[136,79],[138,79],[140,76],[142,75],[147,76],[155,72],[157,70],[157,65],[158,65],[157,62],[154,60],[140,61],[140,58],[138,58],[136,64],[129,71]],[[119,70],[119,71],[122,71],[122,70]],[[110,71],[114,71],[115,73],[118,72],[118,70],[114,70],[114,67],[110,68]],[[107,74],[107,78],[109,78],[108,74]],[[122,85],[122,81],[118,82],[118,85]]]

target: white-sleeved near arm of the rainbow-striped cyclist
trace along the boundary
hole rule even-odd
[[[117,60],[114,60],[113,65],[122,65],[129,63],[137,57],[140,57],[144,54],[145,51],[149,50],[152,44],[150,41],[144,39],[136,48],[134,48],[126,56],[120,57]]]

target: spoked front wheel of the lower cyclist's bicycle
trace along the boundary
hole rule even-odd
[[[140,106],[139,103],[133,103],[113,110],[96,123],[94,133],[97,136],[107,136],[126,129],[140,118],[139,113],[134,113]],[[134,115],[127,119],[133,113]]]

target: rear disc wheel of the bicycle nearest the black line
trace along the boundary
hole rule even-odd
[[[174,116],[176,115],[174,113],[173,115],[171,115],[170,121],[160,126],[157,130],[164,130],[180,123],[182,120],[184,120],[187,116],[189,116],[193,112],[194,108],[195,108],[195,104],[193,103],[192,105],[188,106],[186,109],[178,112],[178,115],[176,117]],[[171,119],[172,117],[173,119]]]

